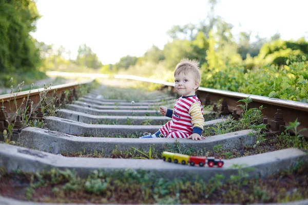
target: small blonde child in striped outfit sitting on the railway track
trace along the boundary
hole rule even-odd
[[[174,106],[168,109],[160,106],[160,114],[172,118],[155,134],[139,138],[187,138],[202,140],[204,117],[200,100],[195,91],[198,90],[201,74],[197,60],[182,59],[175,69],[175,90],[182,95]]]

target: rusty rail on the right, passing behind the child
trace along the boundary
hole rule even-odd
[[[174,92],[174,83],[132,75],[115,75],[114,77],[161,84],[167,88],[168,91]],[[283,131],[284,126],[289,125],[289,122],[298,119],[300,122],[298,129],[307,129],[300,134],[308,138],[308,120],[306,120],[308,117],[307,103],[202,87],[198,89],[196,94],[203,105],[214,105],[217,104],[220,99],[223,99],[222,104],[217,109],[219,109],[222,114],[233,114],[233,116],[239,116],[243,111],[237,106],[242,103],[237,103],[237,101],[250,97],[253,102],[248,104],[249,108],[259,108],[260,106],[264,108],[262,109],[262,114],[265,118],[263,123],[267,124],[267,128],[270,128],[268,134],[279,133]]]

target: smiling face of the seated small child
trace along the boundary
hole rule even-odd
[[[195,95],[195,90],[198,88],[199,83],[196,82],[191,72],[184,72],[175,76],[175,90],[182,96]]]

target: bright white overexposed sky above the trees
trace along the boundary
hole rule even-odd
[[[209,10],[206,0],[36,1],[43,15],[32,34],[38,41],[63,45],[72,59],[79,45],[86,44],[103,64],[142,56],[152,45],[162,49],[173,25],[198,24]],[[235,35],[253,31],[252,37],[270,37],[279,32],[289,40],[308,38],[307,8],[304,0],[221,0],[215,12],[235,26]]]

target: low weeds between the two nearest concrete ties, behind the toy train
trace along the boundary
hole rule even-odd
[[[243,156],[250,156],[255,154],[273,152],[277,150],[283,150],[287,148],[298,148],[304,151],[308,151],[308,142],[306,140],[302,140],[301,137],[292,136],[288,133],[282,133],[277,136],[264,137],[259,136],[258,140],[252,146],[240,147],[237,149],[222,149],[222,145],[216,145],[211,150],[197,150],[192,147],[186,147],[185,144],[180,144],[176,141],[174,144],[166,143],[164,146],[164,151],[186,154],[191,156],[206,156],[206,157],[221,157],[222,159],[233,159]],[[136,158],[136,157],[145,157],[149,156],[149,151],[144,151],[143,149],[139,149],[139,151],[145,153],[141,154],[141,152],[137,151],[138,149],[132,147],[130,150],[120,151],[116,147],[111,152],[111,158]],[[155,150],[151,151],[152,159],[162,159],[161,153],[156,152]],[[61,153],[64,156],[69,157],[107,157],[105,153],[94,151],[93,153],[76,152],[76,153]]]

